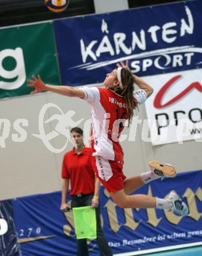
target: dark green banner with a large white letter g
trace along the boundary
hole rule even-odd
[[[0,41],[0,98],[30,94],[33,74],[60,83],[50,22],[1,29]]]

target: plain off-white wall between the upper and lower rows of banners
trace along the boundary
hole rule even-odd
[[[0,118],[7,118],[10,123],[9,137],[5,139],[5,148],[0,148],[0,200],[14,197],[28,196],[31,194],[48,193],[61,189],[61,165],[66,151],[73,147],[68,142],[66,150],[59,154],[52,153],[41,139],[33,137],[33,133],[39,134],[39,113],[41,108],[51,102],[56,104],[62,112],[73,110],[73,121],[79,121],[84,117],[80,127],[91,119],[91,108],[87,102],[79,98],[67,98],[65,96],[44,93],[42,95],[29,95],[10,100],[1,100]],[[45,121],[53,114],[61,114],[56,108],[49,108],[45,115]],[[144,106],[140,106],[139,118],[146,119]],[[16,119],[27,119],[28,126],[23,127],[26,131],[24,142],[14,142],[12,134],[17,133],[12,127]],[[51,121],[44,125],[45,133],[54,131],[57,121]],[[1,127],[1,135],[2,135]],[[132,133],[125,127],[123,134]],[[160,160],[163,163],[172,163],[178,172],[201,169],[201,142],[194,140],[184,144],[165,144],[151,146],[150,142],[141,139],[141,126],[136,133],[136,141],[125,140],[122,146],[125,152],[124,171],[127,176],[136,175],[148,170],[148,162]],[[19,135],[19,133],[18,133]],[[89,135],[86,134],[86,137]],[[58,135],[51,144],[55,148],[62,148],[66,142],[64,135]]]

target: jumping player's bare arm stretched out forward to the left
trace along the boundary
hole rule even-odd
[[[32,77],[33,80],[28,79],[27,84],[28,87],[35,88],[35,91],[32,91],[31,95],[34,95],[35,93],[41,93],[43,91],[51,91],[52,93],[58,93],[64,96],[85,98],[85,93],[79,88],[64,85],[48,85],[41,80],[40,75],[37,75],[37,77],[32,75]]]

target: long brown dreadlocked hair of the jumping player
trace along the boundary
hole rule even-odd
[[[134,78],[132,77],[132,72],[128,68],[121,68],[121,82],[123,84],[123,88],[119,86],[110,86],[108,88],[125,98],[130,125],[132,121],[133,110],[136,108],[137,102],[134,100],[134,96],[132,95],[134,91]]]

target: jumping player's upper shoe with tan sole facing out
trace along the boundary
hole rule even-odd
[[[176,177],[176,170],[169,163],[161,164],[159,161],[150,161],[149,166],[152,173],[155,173],[155,175],[162,179],[165,177]]]

